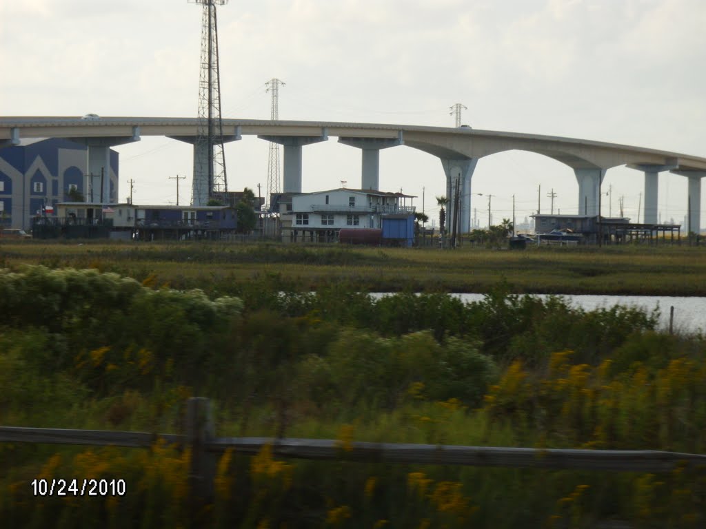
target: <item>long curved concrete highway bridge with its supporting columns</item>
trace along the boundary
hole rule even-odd
[[[379,189],[380,150],[407,145],[441,160],[447,196],[455,182],[461,187],[462,231],[470,228],[471,178],[477,161],[508,150],[544,154],[570,166],[578,181],[579,212],[598,214],[599,193],[608,169],[627,165],[645,174],[645,222],[657,223],[657,181],[662,171],[688,178],[690,231],[700,229],[701,178],[706,176],[706,158],[616,143],[562,138],[469,127],[446,128],[380,123],[339,123],[329,121],[270,121],[224,119],[224,142],[257,135],[284,145],[283,190],[301,192],[301,150],[304,145],[328,140],[357,147],[362,152],[361,188]],[[0,117],[0,146],[17,145],[20,138],[71,138],[88,145],[88,168],[100,174],[107,166],[109,147],[140,140],[141,135],[159,135],[194,145],[198,118],[104,117],[94,120],[77,117]],[[194,153],[194,160],[199,159]],[[193,202],[208,200],[208,168],[194,164]],[[453,214],[453,207],[449,214]]]

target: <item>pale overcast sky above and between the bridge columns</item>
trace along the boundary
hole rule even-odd
[[[201,6],[187,0],[0,0],[0,115],[195,117]],[[218,8],[226,118],[454,126],[560,135],[706,157],[704,0],[231,0]],[[191,199],[191,145],[143,138],[120,152],[120,198]],[[226,147],[228,187],[267,184],[268,143]],[[441,163],[410,147],[381,151],[381,189],[418,195],[436,217]],[[304,147],[303,190],[360,186],[361,152]],[[511,151],[478,162],[472,192],[492,194],[493,223],[578,210],[568,166]],[[637,219],[642,173],[610,169],[603,213]],[[702,184],[702,195],[706,183]],[[472,197],[481,226],[488,200]],[[644,200],[642,201],[644,206]],[[642,208],[644,209],[644,208]],[[662,221],[683,222],[686,178],[662,173]],[[706,224],[702,197],[702,224]],[[642,212],[640,214],[642,219]],[[438,222],[438,221],[437,221]]]

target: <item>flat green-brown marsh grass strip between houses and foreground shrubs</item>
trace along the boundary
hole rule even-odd
[[[443,251],[275,243],[0,243],[1,267],[97,268],[219,293],[237,293],[239,285],[270,276],[299,290],[345,282],[361,291],[486,293],[505,280],[516,293],[705,296],[705,257],[706,249],[686,245]]]

